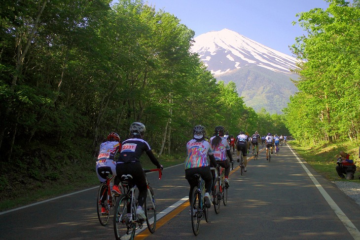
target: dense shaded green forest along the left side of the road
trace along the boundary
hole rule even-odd
[[[288,134],[247,107],[190,51],[194,32],[141,0],[6,0],[0,7],[0,190],[90,168],[134,121],[156,156],[185,154],[192,129]],[[10,179],[16,179],[11,182]]]

